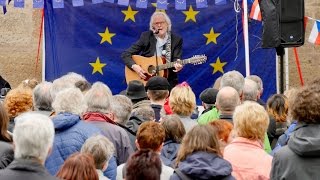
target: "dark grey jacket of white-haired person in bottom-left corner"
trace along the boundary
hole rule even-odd
[[[6,169],[0,170],[0,179],[56,180],[43,165],[31,159],[15,159]]]

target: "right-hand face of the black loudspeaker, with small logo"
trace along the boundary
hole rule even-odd
[[[304,44],[304,0],[279,0],[280,46],[298,47]]]

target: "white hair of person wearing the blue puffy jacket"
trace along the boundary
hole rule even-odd
[[[84,96],[78,88],[68,88],[60,91],[52,103],[54,111],[58,113],[72,113],[81,115],[85,109],[86,104]]]

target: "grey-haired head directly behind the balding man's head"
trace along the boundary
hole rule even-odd
[[[220,81],[220,89],[226,86],[233,87],[239,94],[240,100],[243,97],[244,77],[238,71],[229,71],[223,74]]]

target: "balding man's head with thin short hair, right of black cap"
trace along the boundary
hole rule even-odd
[[[238,92],[229,86],[219,90],[216,100],[216,108],[219,112],[219,119],[233,123],[232,115],[238,105],[240,105]]]

